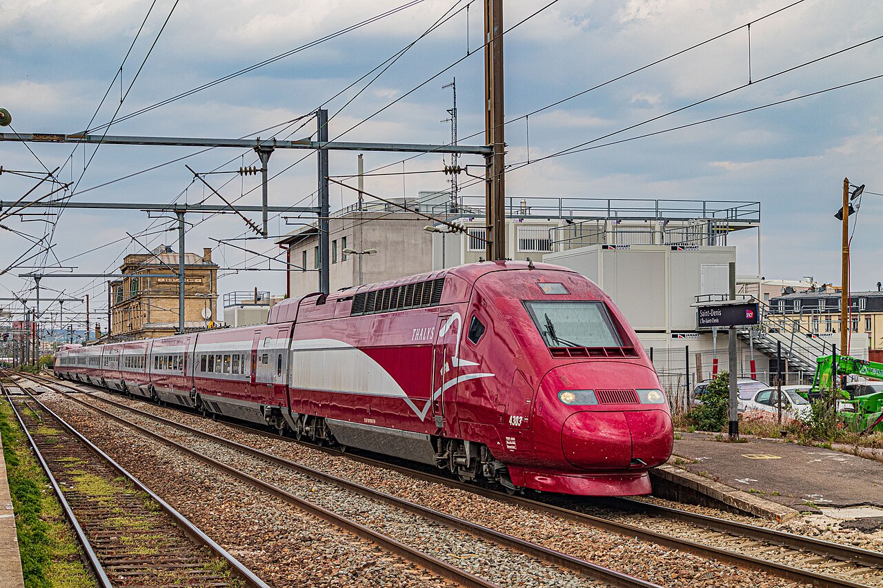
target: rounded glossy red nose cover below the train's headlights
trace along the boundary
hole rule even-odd
[[[654,467],[671,455],[666,411],[579,411],[564,421],[564,458],[585,470]]]

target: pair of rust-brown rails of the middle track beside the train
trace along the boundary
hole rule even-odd
[[[40,381],[43,387],[64,394],[64,391],[62,391],[61,388],[57,387],[55,384],[48,383],[45,379],[32,378],[30,375],[27,375],[26,378],[33,381]],[[77,390],[77,388],[67,388],[81,393],[81,391]],[[269,494],[275,495],[277,498],[281,498],[284,501],[289,501],[292,504],[296,504],[299,508],[306,509],[313,515],[321,516],[329,522],[338,524],[338,526],[341,526],[347,531],[354,532],[364,539],[369,539],[378,543],[382,547],[387,548],[392,553],[402,555],[407,559],[411,559],[411,561],[419,562],[421,566],[426,567],[427,569],[432,569],[436,573],[440,573],[443,577],[448,577],[449,579],[457,582],[457,584],[461,584],[464,586],[485,587],[495,585],[487,579],[473,575],[470,572],[464,571],[463,569],[458,569],[457,567],[450,565],[448,562],[444,562],[442,560],[434,558],[434,556],[432,555],[428,555],[421,551],[408,547],[407,545],[404,545],[404,543],[401,543],[396,539],[393,539],[392,537],[383,535],[378,531],[374,531],[373,529],[368,528],[366,525],[359,524],[358,522],[340,516],[330,509],[325,509],[321,507],[314,501],[306,501],[303,498],[299,497],[297,494],[294,494],[294,492],[289,489],[275,486],[274,484],[269,483],[266,480],[262,480],[259,477],[254,476],[246,471],[243,471],[236,467],[232,467],[229,464],[225,463],[225,461],[227,461],[226,459],[224,461],[216,460],[206,455],[205,453],[193,449],[192,442],[185,445],[184,443],[173,441],[170,439],[170,435],[163,435],[162,433],[157,433],[156,431],[148,429],[144,426],[140,426],[137,423],[133,423],[128,419],[121,418],[110,411],[105,411],[98,406],[94,406],[94,404],[92,403],[85,402],[76,396],[68,395],[68,397],[71,398],[75,403],[78,403],[80,406],[87,408],[87,410],[97,412],[103,417],[110,418],[120,424],[132,427],[133,429],[147,435],[155,441],[160,441],[166,445],[169,445],[170,447],[174,447],[175,449],[183,451],[187,455],[195,457],[201,462],[212,467],[223,470],[225,473],[228,473],[241,481],[245,481],[246,483],[259,488],[264,492],[268,492]],[[100,396],[93,397],[101,402],[107,402],[115,405],[117,408],[129,411],[129,408],[126,407],[125,404],[112,403],[107,401],[106,399],[101,398]],[[515,536],[508,535],[500,531],[495,531],[494,529],[479,524],[471,523],[462,518],[450,516],[443,513],[442,511],[429,509],[411,501],[405,501],[391,494],[386,494],[381,491],[375,490],[374,488],[358,485],[348,480],[337,478],[321,471],[313,470],[312,468],[306,467],[302,464],[296,464],[289,460],[283,460],[277,456],[265,454],[263,452],[260,452],[259,450],[223,439],[222,437],[217,437],[215,435],[200,432],[197,429],[192,429],[192,427],[181,425],[180,423],[176,423],[175,421],[171,421],[162,417],[156,417],[155,415],[151,415],[148,412],[139,411],[138,409],[134,409],[133,412],[139,414],[140,416],[151,418],[156,422],[162,423],[163,426],[174,427],[178,431],[183,431],[188,434],[196,435],[202,439],[212,441],[215,444],[223,445],[223,447],[235,449],[248,456],[258,457],[261,460],[269,462],[270,464],[275,464],[277,466],[282,466],[292,471],[296,471],[299,474],[313,479],[313,483],[319,481],[325,482],[329,485],[337,486],[338,488],[346,492],[363,496],[371,501],[383,502],[394,507],[395,509],[405,511],[414,516],[418,516],[419,525],[421,527],[432,528],[432,523],[442,525],[443,527],[446,527],[450,530],[455,530],[457,532],[468,534],[471,535],[473,538],[493,544],[494,548],[496,549],[499,549],[499,547],[503,547],[509,551],[516,552],[521,556],[525,556],[523,562],[523,565],[525,566],[530,566],[532,565],[532,560],[537,560],[540,562],[544,562],[546,566],[569,571],[571,574],[564,575],[562,578],[560,578],[561,584],[585,584],[585,582],[579,581],[580,578],[592,578],[593,580],[598,580],[604,584],[614,586],[659,588],[657,584],[647,582],[640,578],[631,577],[628,574],[624,574],[613,569],[608,569],[592,562],[586,562],[585,560],[581,560],[577,557],[572,557],[568,554],[556,552],[553,549],[542,547],[530,541],[526,541],[525,539],[519,539]],[[315,490],[315,488],[313,488],[313,490]],[[343,499],[342,501],[345,501],[345,499]],[[535,563],[533,565],[535,565]],[[538,574],[538,577],[539,576],[540,574]],[[552,585],[559,585],[559,582],[554,581]]]

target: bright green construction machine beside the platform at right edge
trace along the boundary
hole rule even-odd
[[[834,391],[837,376],[855,374],[863,378],[883,380],[883,363],[851,358],[848,355],[828,355],[818,358],[816,375],[812,380],[809,400],[830,397]],[[837,388],[837,395],[842,398],[838,405],[849,405],[852,410],[840,410],[839,414],[847,425],[853,426],[862,434],[872,431],[883,431],[883,390],[872,394],[855,396],[848,390]]]

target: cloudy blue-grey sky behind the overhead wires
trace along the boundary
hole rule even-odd
[[[290,53],[113,124],[110,133],[227,138],[253,137],[260,132],[261,137],[278,133],[279,138],[302,138],[313,132],[314,122],[308,118],[291,121],[324,107],[334,115],[329,125],[332,138],[443,143],[449,140],[450,131],[440,121],[447,117],[451,93],[442,86],[456,76],[460,137],[479,133],[462,140],[480,142],[482,56],[479,51],[464,57],[479,46],[482,9],[481,3],[472,2],[467,11],[467,4],[468,0],[0,0],[4,15],[0,107],[11,111],[12,126],[18,132],[78,132],[107,123],[115,113],[117,117],[137,113]],[[509,0],[506,26],[546,4],[547,0]],[[841,234],[832,215],[840,207],[846,176],[855,184],[867,185],[852,241],[853,284],[857,289],[874,288],[883,280],[883,245],[877,232],[883,226],[883,196],[867,192],[883,193],[883,79],[605,146],[883,74],[883,40],[874,41],[883,34],[883,4],[804,0],[786,8],[789,4],[789,0],[559,0],[525,20],[505,37],[506,115],[513,120],[506,131],[507,161],[536,160],[583,143],[602,147],[511,170],[508,195],[760,201],[760,273],[787,279],[812,275],[819,281],[839,283]],[[784,10],[761,19],[780,9]],[[315,43],[385,11],[391,11],[389,16]],[[756,22],[751,25],[749,61],[749,34],[744,25],[752,21]],[[382,75],[362,79],[430,28],[431,33]],[[523,118],[733,29],[737,30],[661,64]],[[865,41],[870,42],[826,57]],[[292,52],[307,44],[312,46]],[[461,58],[459,64],[403,98]],[[792,68],[797,69],[788,72]],[[722,93],[727,94],[660,117]],[[660,118],[623,131],[655,117]],[[306,126],[300,128],[302,124]],[[22,143],[0,143],[0,165],[5,170],[34,172],[43,166],[60,167],[57,177],[77,185],[75,201],[199,202],[208,198],[208,203],[220,203],[192,183],[185,163],[194,170],[209,171],[234,170],[254,162],[253,153],[233,149],[193,155],[197,150],[192,147],[102,146],[97,152],[94,147],[73,149],[71,145],[30,147],[34,154]],[[192,156],[127,177],[185,155]],[[366,168],[402,159],[401,155],[366,154]],[[274,174],[285,171],[270,184],[271,203],[314,203],[314,161],[306,152],[277,151],[270,170]],[[441,166],[441,156],[424,155],[405,162],[404,170],[439,170]],[[403,164],[389,169],[402,170]],[[355,154],[331,155],[332,175],[355,170]],[[260,203],[255,177],[209,178],[223,185],[224,195],[231,200]],[[17,200],[33,185],[33,179],[4,173],[0,200]],[[388,197],[444,187],[444,177],[437,173],[408,175],[404,181],[402,176],[366,179],[368,192]],[[47,185],[33,196],[45,192]],[[466,193],[482,192],[474,186]],[[332,189],[333,208],[351,200],[339,188]],[[191,215],[188,220],[196,223],[187,235],[190,251],[215,246],[210,237],[248,236],[243,223],[232,215]],[[19,222],[17,218],[3,224],[11,229],[0,230],[3,268],[32,245],[12,230],[32,239],[47,236],[55,245],[51,253],[33,260],[27,260],[28,253],[19,264],[60,263],[77,266],[75,271],[83,273],[111,271],[126,253],[140,252],[140,245],[126,232],[143,233],[139,238],[148,246],[176,238],[174,232],[163,232],[170,228],[168,220],[147,218],[141,212],[67,209],[57,217],[54,228],[46,222]],[[273,218],[270,233],[279,235],[293,228]],[[273,241],[235,243],[269,255],[279,251]],[[739,273],[756,275],[756,232],[745,231],[731,243],[739,247]],[[266,268],[266,260],[259,259],[231,246],[215,250],[215,261],[223,268]],[[271,267],[282,268],[280,264]],[[28,287],[26,280],[16,276],[23,271],[13,268],[0,275],[0,296]],[[222,293],[254,286],[284,292],[281,271],[237,274],[224,270],[221,275]],[[55,280],[43,285],[77,297],[84,293],[101,301],[106,297],[102,280]],[[97,307],[102,308],[103,302]]]

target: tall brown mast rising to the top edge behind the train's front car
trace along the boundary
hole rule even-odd
[[[487,186],[485,187],[488,260],[506,259],[505,119],[502,88],[502,0],[485,0],[485,137]]]

